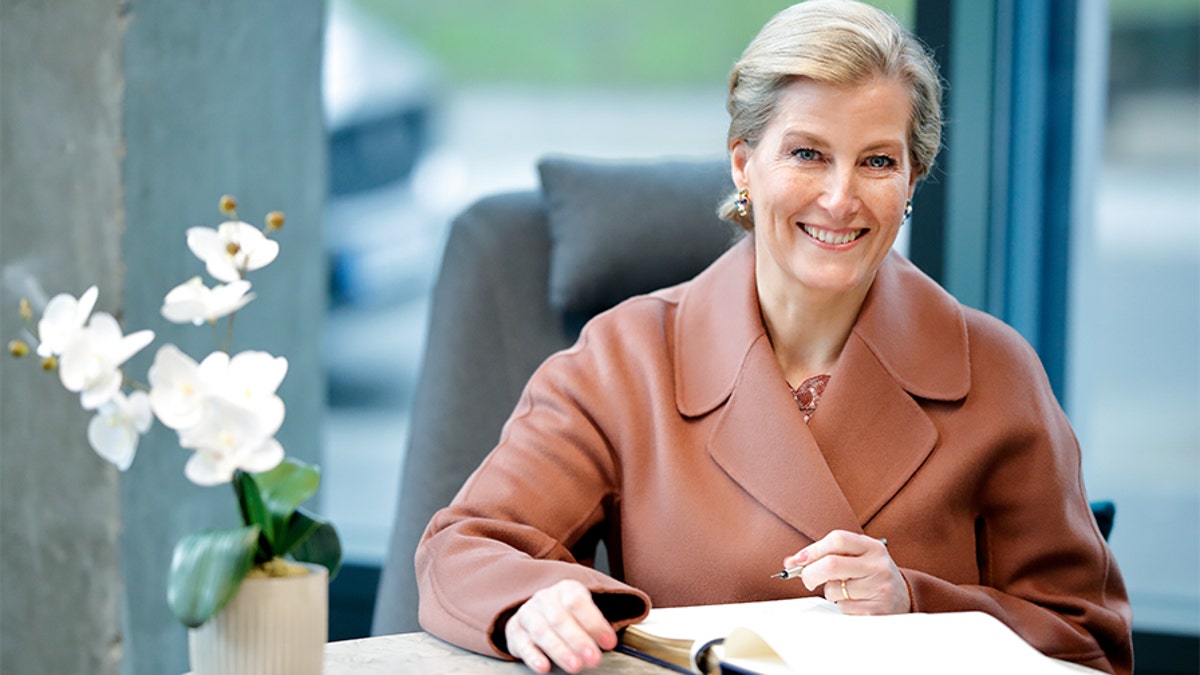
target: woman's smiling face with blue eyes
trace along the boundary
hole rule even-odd
[[[796,79],[758,143],[734,143],[761,291],[865,293],[916,184],[910,110],[908,90],[890,79],[845,88]]]

